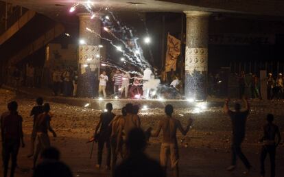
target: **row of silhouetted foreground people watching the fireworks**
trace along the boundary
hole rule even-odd
[[[235,110],[228,107],[229,99],[226,99],[224,112],[230,117],[233,134],[231,148],[231,164],[227,168],[233,171],[236,167],[237,156],[246,166],[245,174],[248,174],[252,165],[248,158],[241,152],[241,143],[246,136],[246,119],[250,113],[250,105],[247,99],[243,99],[245,108],[241,110],[239,103],[236,103]],[[23,141],[23,118],[18,113],[18,104],[16,102],[8,103],[8,111],[1,115],[1,138],[2,138],[2,158],[3,158],[3,176],[8,176],[8,165],[10,157],[12,166],[10,176],[14,176],[17,166],[17,156],[20,145],[25,147]],[[43,104],[43,99],[36,99],[36,106],[31,110],[31,117],[34,119],[34,125],[31,135],[31,151],[28,158],[34,156],[34,176],[72,176],[71,170],[60,160],[60,153],[54,147],[51,147],[48,131],[56,137],[56,132],[51,128],[51,119],[54,116],[50,113],[48,103]],[[88,142],[97,142],[97,165],[102,168],[102,155],[106,145],[106,169],[111,170],[112,176],[166,176],[167,161],[170,161],[171,169],[174,169],[173,176],[179,176],[178,162],[178,140],[177,130],[186,135],[191,128],[193,119],[188,119],[186,128],[173,116],[174,107],[168,104],[165,106],[165,117],[161,119],[153,130],[151,127],[142,130],[141,119],[139,117],[139,106],[126,104],[121,109],[121,115],[115,115],[113,105],[106,104],[106,111],[99,117],[99,123],[95,127],[92,139]],[[265,157],[270,155],[271,176],[275,176],[275,156],[276,147],[281,142],[281,135],[278,126],[273,123],[274,116],[267,115],[267,123],[263,126],[263,136],[259,140],[261,147],[261,176],[265,175]],[[158,137],[163,132],[163,138],[160,151],[160,163],[156,162],[145,154],[147,141],[150,137]],[[34,145],[36,142],[36,150]],[[93,150],[93,148],[92,148]],[[40,163],[38,163],[38,155]],[[117,158],[121,156],[121,163],[117,165]],[[57,174],[57,175],[55,175]]]

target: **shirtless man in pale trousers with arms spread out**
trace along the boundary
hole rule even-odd
[[[193,120],[189,118],[187,128],[183,129],[180,121],[172,117],[174,113],[174,107],[168,104],[165,106],[165,118],[161,119],[158,123],[158,128],[156,132],[152,134],[152,137],[158,137],[161,130],[163,130],[163,141],[161,144],[160,152],[160,163],[165,171],[167,172],[167,159],[170,157],[171,168],[174,169],[174,176],[178,177],[178,141],[176,139],[176,131],[180,130],[183,135],[186,135],[189,132],[189,128],[193,123]]]

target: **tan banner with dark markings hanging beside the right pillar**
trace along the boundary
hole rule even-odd
[[[171,69],[176,71],[176,61],[180,55],[180,40],[167,34],[167,53],[165,59],[165,71],[169,72]]]

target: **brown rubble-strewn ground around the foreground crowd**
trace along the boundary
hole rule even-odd
[[[23,128],[27,147],[21,149],[19,154],[19,169],[16,176],[32,176],[32,159],[26,158],[29,150],[29,136],[32,130],[32,119],[29,111],[34,105],[34,98],[26,95],[15,96],[11,91],[0,89],[0,113],[6,109],[6,103],[12,99],[19,102],[19,113],[23,115]],[[252,106],[252,113],[247,122],[246,141],[244,142],[244,153],[248,156],[254,169],[250,176],[259,176],[259,150],[257,143],[261,133],[261,125],[266,113],[276,115],[276,123],[284,130],[284,103],[282,101],[260,102]],[[56,139],[52,138],[52,145],[58,147],[62,152],[62,161],[67,163],[74,176],[110,176],[104,170],[97,170],[95,166],[96,147],[93,159],[89,154],[91,144],[86,144],[86,140],[91,137],[98,121],[100,110],[69,106],[51,102],[51,111],[54,119],[51,125],[58,133]],[[119,110],[115,110],[119,113]],[[163,109],[154,108],[141,110],[141,121],[143,128],[156,127],[158,119],[163,116]],[[243,176],[244,165],[238,163],[235,172],[226,172],[225,168],[230,162],[230,120],[221,107],[207,108],[202,113],[192,113],[191,108],[176,108],[176,117],[185,125],[187,116],[191,115],[195,120],[193,129],[186,137],[178,134],[178,139],[185,138],[189,147],[180,144],[180,176]],[[182,117],[182,115],[184,115]],[[282,135],[283,132],[282,132]],[[283,136],[284,137],[284,136]],[[161,137],[160,137],[161,138]],[[158,160],[160,138],[151,139],[147,154]],[[284,174],[284,147],[283,144],[278,149],[276,158],[276,174]],[[2,173],[2,169],[0,169]],[[169,172],[169,176],[171,176]]]

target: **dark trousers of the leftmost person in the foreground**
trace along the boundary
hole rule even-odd
[[[8,166],[10,161],[10,156],[12,156],[12,166],[11,166],[11,177],[14,177],[14,172],[16,169],[16,157],[18,156],[20,147],[19,140],[6,140],[3,143],[3,163],[4,163],[4,177],[8,175]]]

